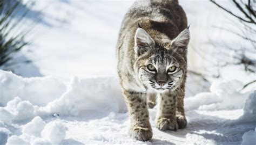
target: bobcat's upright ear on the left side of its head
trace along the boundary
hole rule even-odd
[[[141,55],[154,47],[154,40],[143,28],[137,28],[134,36],[134,45],[135,53]]]

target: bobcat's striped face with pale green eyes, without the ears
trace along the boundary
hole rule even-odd
[[[145,59],[139,59],[138,77],[147,88],[152,88],[156,92],[175,90],[182,81],[185,73],[186,63],[182,62],[183,56],[176,59],[171,50],[164,47],[156,47],[156,50],[147,54]],[[181,61],[181,62],[179,62]]]

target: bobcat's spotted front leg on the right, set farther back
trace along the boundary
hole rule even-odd
[[[177,97],[171,91],[160,94],[156,127],[160,130],[177,130]]]

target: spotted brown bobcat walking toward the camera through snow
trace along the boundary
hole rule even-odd
[[[190,31],[177,0],[136,1],[126,13],[117,44],[118,75],[130,113],[130,135],[152,138],[147,106],[159,95],[156,127],[185,128],[184,88]]]

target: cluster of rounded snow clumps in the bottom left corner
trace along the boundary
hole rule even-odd
[[[65,136],[66,127],[61,121],[45,124],[40,117],[35,117],[22,127],[21,135],[12,135],[6,144],[60,144]]]

